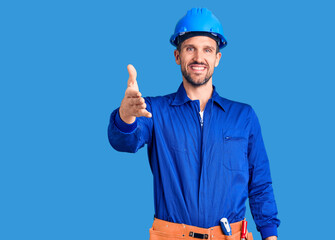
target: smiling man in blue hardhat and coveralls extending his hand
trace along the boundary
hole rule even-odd
[[[191,9],[170,41],[183,82],[178,91],[141,97],[136,70],[108,127],[110,144],[136,152],[148,146],[155,220],[150,239],[241,239],[245,202],[262,238],[277,239],[277,208],[269,161],[253,109],[219,96],[214,68],[227,45],[218,19]],[[230,223],[225,236],[220,219]],[[252,239],[248,233],[246,239]]]

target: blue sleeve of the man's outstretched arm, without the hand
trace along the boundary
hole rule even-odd
[[[150,98],[145,97],[147,110],[151,112]],[[138,117],[132,124],[122,121],[119,116],[119,108],[115,109],[108,125],[108,140],[117,151],[135,153],[144,144],[151,144],[153,120],[146,117]]]

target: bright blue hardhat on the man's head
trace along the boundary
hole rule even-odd
[[[207,8],[192,8],[189,10],[177,23],[174,34],[170,38],[171,44],[177,47],[180,43],[179,36],[190,32],[197,32],[198,35],[204,35],[204,33],[213,35],[213,38],[219,40],[220,49],[227,45],[220,21]]]

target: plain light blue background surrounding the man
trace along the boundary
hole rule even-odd
[[[168,40],[192,7],[228,40],[218,92],[260,119],[280,239],[334,236],[332,1],[1,1],[0,239],[149,239],[146,148],[116,152],[107,125],[128,63],[144,96],[177,90]]]

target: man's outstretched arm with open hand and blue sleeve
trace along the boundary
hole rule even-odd
[[[141,97],[136,70],[128,65],[129,80],[120,108],[114,110],[108,126],[108,140],[122,152],[136,152],[151,141],[152,119],[149,99]]]

